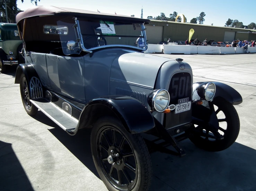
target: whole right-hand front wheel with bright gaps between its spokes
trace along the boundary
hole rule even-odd
[[[211,132],[207,127],[197,126],[197,132],[189,139],[199,148],[206,151],[222,151],[229,148],[237,139],[240,121],[234,106],[223,98],[213,100],[214,110],[219,122],[219,130]],[[223,139],[218,139],[222,135]]]

